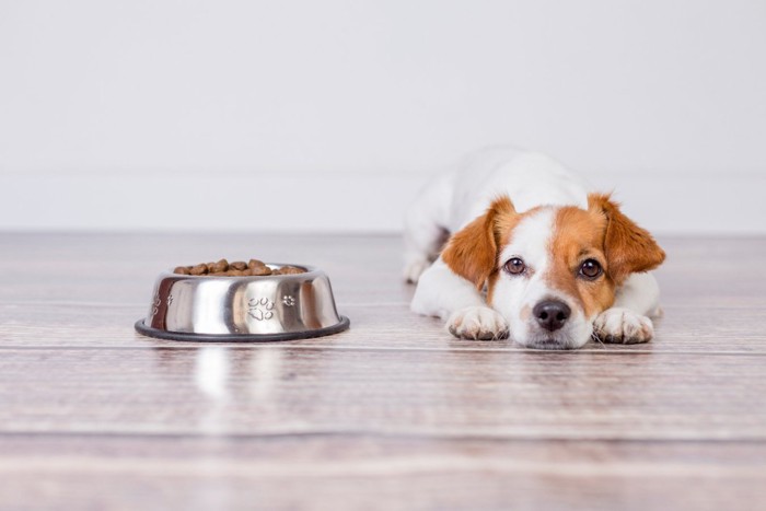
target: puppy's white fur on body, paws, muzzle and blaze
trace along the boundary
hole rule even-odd
[[[513,230],[499,260],[522,256],[534,275],[514,279],[501,275],[488,306],[474,283],[456,275],[439,256],[448,234],[459,232],[481,216],[494,199],[508,195],[522,213],[542,208]],[[411,310],[446,318],[455,336],[472,339],[504,337],[532,348],[579,348],[595,334],[615,342],[643,342],[653,336],[648,316],[658,313],[659,287],[649,274],[632,274],[616,290],[614,305],[596,317],[585,317],[571,297],[552,289],[541,277],[548,265],[553,211],[556,207],[588,208],[588,189],[555,160],[513,148],[491,148],[472,154],[440,175],[420,195],[406,216],[404,277],[417,282]],[[571,307],[561,332],[543,332],[520,311],[543,298],[556,298]],[[594,330],[595,329],[595,330]]]

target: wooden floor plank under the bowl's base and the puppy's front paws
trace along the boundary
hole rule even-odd
[[[143,305],[67,302],[0,304],[0,346],[189,347],[184,342],[136,334],[132,324],[146,314],[146,310]],[[351,318],[349,332],[280,345],[327,349],[524,349],[509,340],[459,340],[444,330],[441,321],[413,314],[404,304],[345,304],[339,311]],[[766,324],[766,309],[666,306],[664,317],[655,322],[657,338],[653,341],[628,346],[591,341],[582,350],[766,355],[766,330],[752,328],[753,323]]]

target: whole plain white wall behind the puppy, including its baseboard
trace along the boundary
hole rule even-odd
[[[399,228],[511,141],[766,232],[766,2],[0,0],[0,230]]]

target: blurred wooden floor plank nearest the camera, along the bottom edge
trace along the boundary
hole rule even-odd
[[[386,437],[0,437],[35,509],[762,509],[763,444]]]

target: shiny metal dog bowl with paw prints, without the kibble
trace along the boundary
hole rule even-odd
[[[136,330],[150,337],[198,341],[269,341],[320,337],[348,328],[338,315],[329,279],[305,274],[259,277],[177,275],[163,271],[146,318]]]

